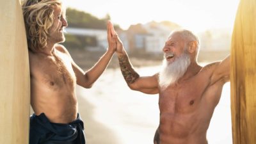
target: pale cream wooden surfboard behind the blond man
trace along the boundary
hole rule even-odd
[[[0,143],[28,144],[30,81],[19,0],[0,1]]]

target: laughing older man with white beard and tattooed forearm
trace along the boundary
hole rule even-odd
[[[163,47],[160,72],[140,77],[117,39],[116,53],[128,86],[143,93],[159,93],[155,144],[207,144],[212,113],[223,84],[229,81],[230,58],[201,67],[196,61],[198,47],[198,38],[191,31],[173,31]]]

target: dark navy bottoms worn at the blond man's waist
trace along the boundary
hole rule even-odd
[[[79,114],[69,124],[51,123],[44,113],[30,117],[29,144],[85,144],[84,123]]]

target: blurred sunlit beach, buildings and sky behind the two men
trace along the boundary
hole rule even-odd
[[[200,38],[200,65],[225,58],[230,52],[239,4],[239,0],[63,2],[68,20],[63,45],[77,65],[88,70],[106,51],[106,22],[111,20],[141,76],[159,71],[163,59],[161,49],[170,32],[177,28],[189,29]],[[77,86],[77,97],[87,143],[153,143],[159,124],[158,95],[129,90],[116,56],[92,88]],[[209,144],[232,143],[230,83],[223,88],[207,139]]]

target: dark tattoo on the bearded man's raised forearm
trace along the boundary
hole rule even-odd
[[[124,56],[118,56],[118,60],[121,72],[124,76],[126,83],[134,83],[134,81],[136,81],[136,79],[138,79],[138,77],[140,76],[132,68],[132,65],[129,61],[127,54],[125,54]]]

